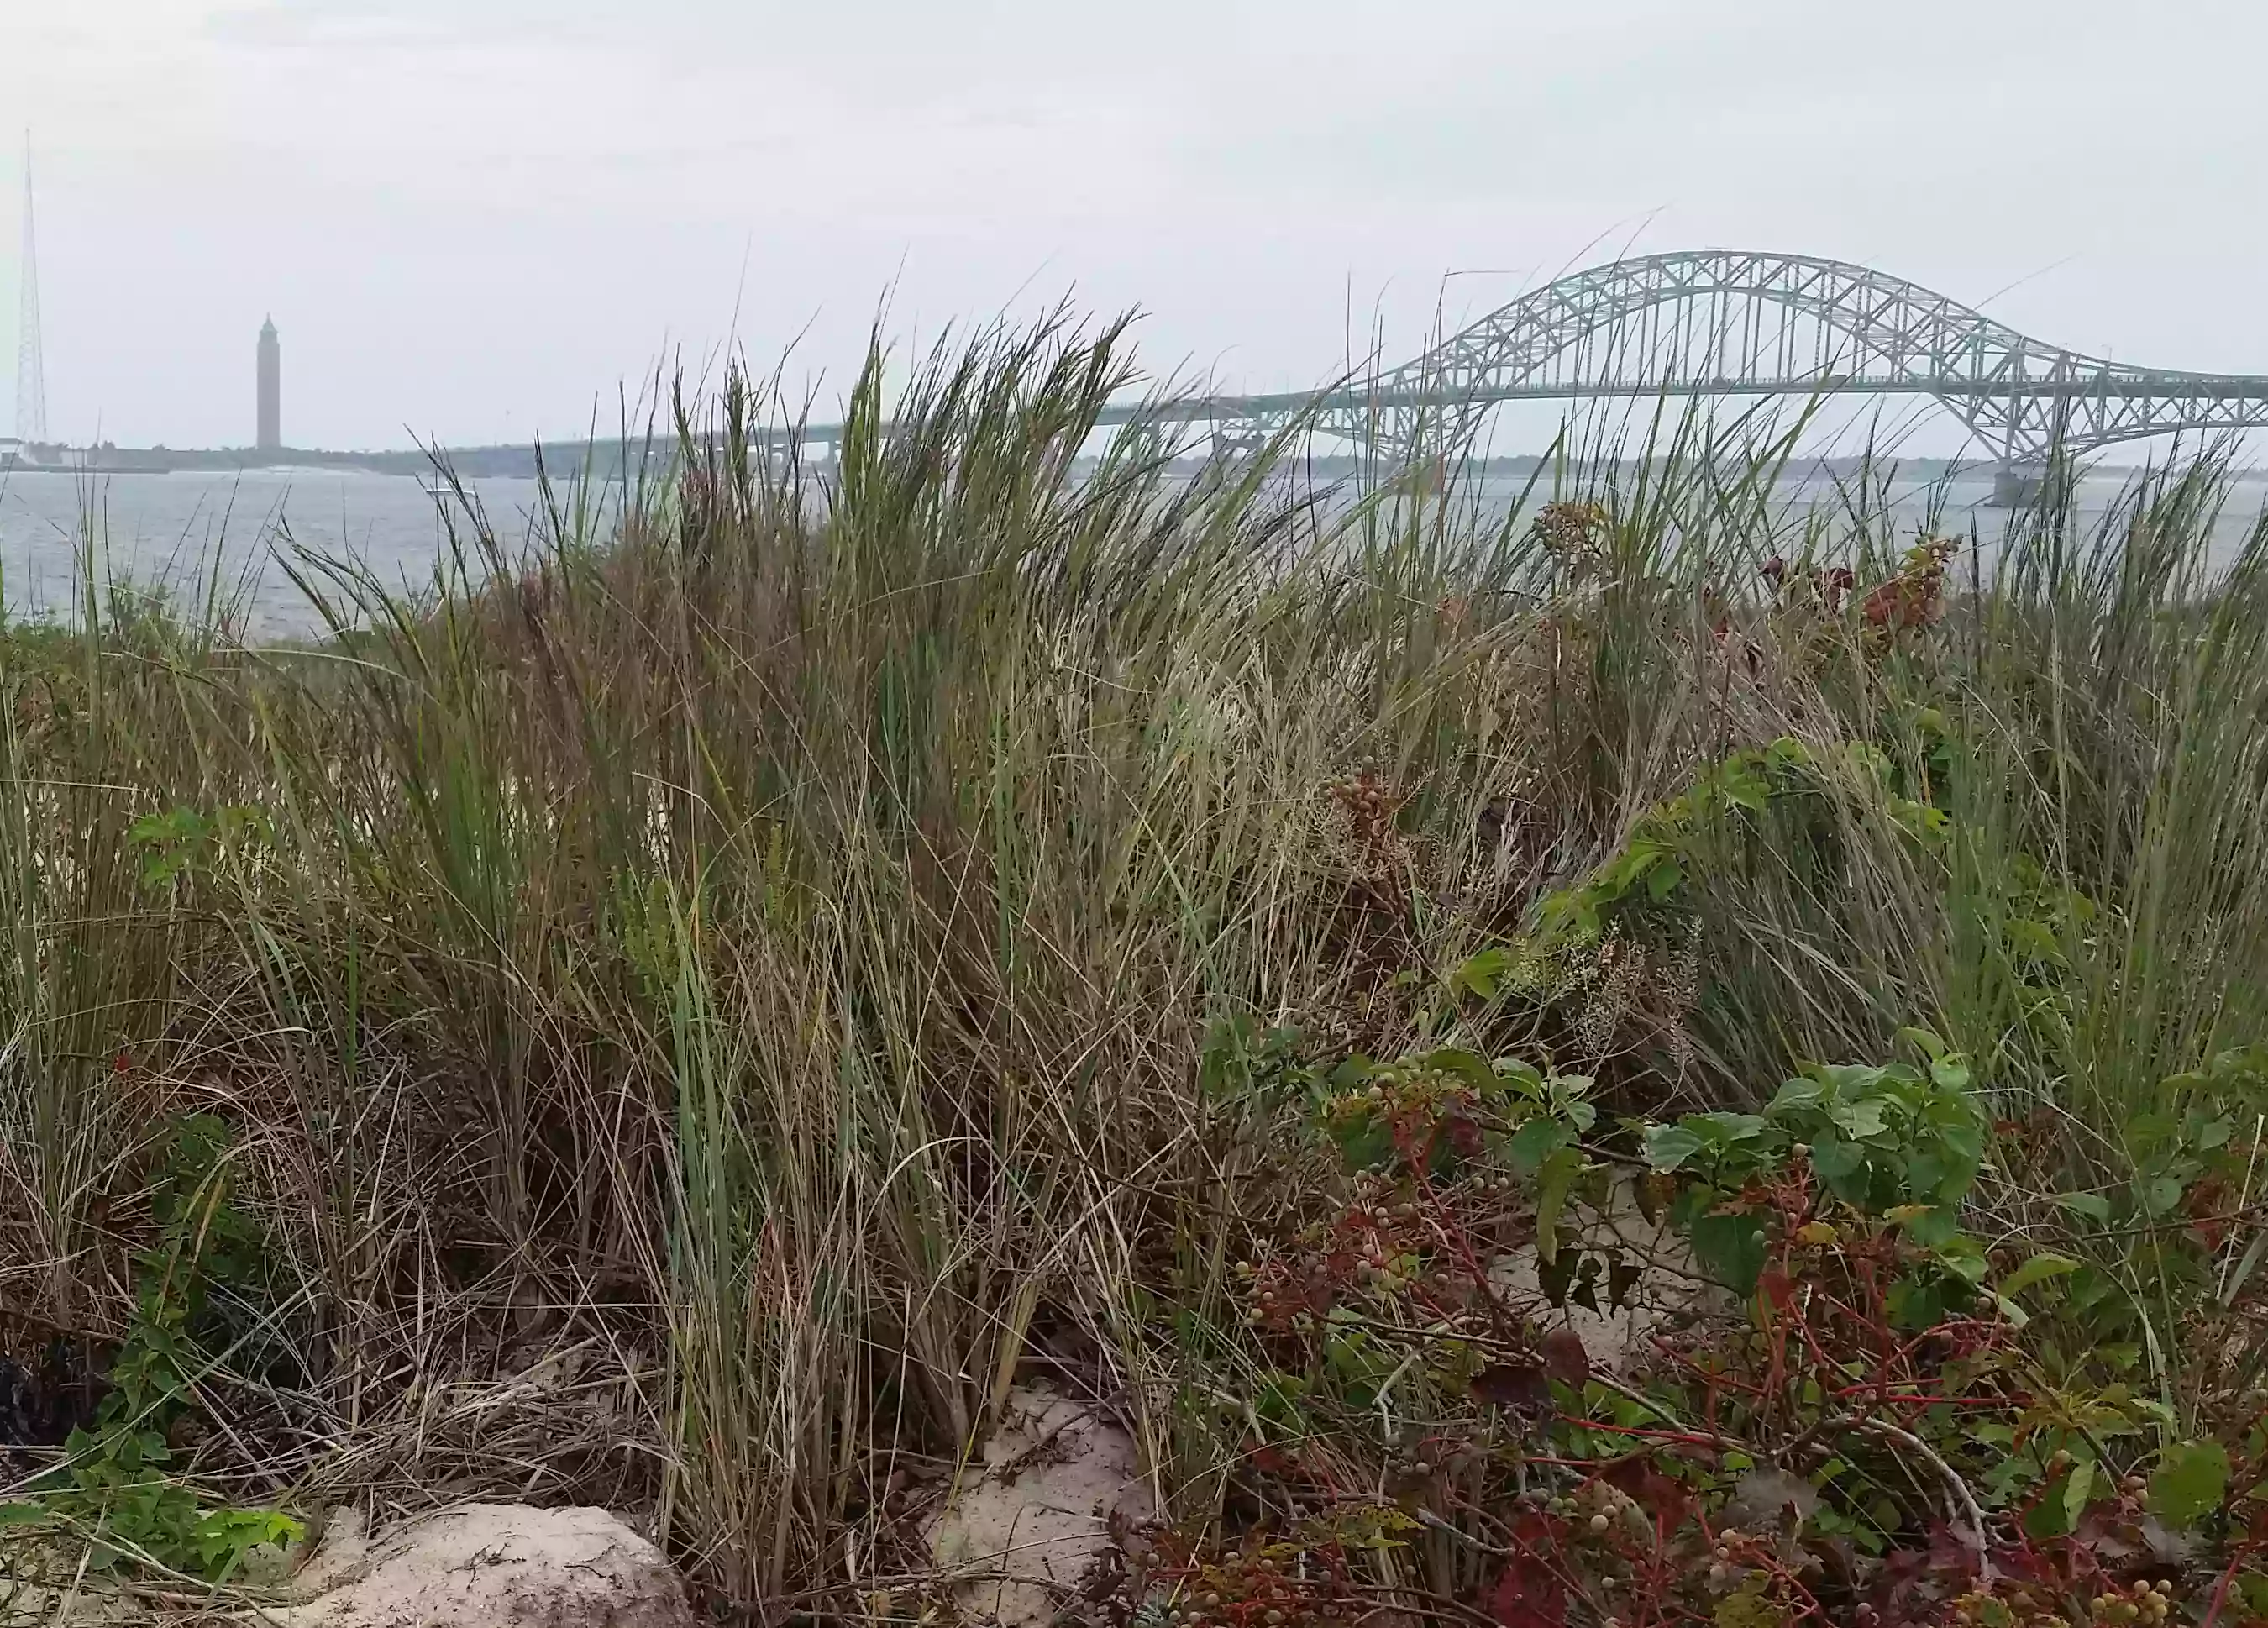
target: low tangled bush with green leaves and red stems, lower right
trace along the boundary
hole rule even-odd
[[[1461,1433],[1501,1442],[1492,1422],[1522,1419],[1517,1447],[1495,1451],[1554,1490],[1486,1506],[1522,1510],[1522,1553],[1538,1555],[1497,1596],[1508,1619],[1549,1601],[1554,1578],[1608,1592],[1656,1576],[1690,1589],[1674,1610],[1644,1608],[1665,1621],[1726,1608],[1792,1621],[1810,1608],[1767,1558],[1787,1540],[1771,1496],[1801,1510],[1801,1542],[1903,1551],[1907,1571],[1957,1576],[1960,1555],[1923,1542],[1948,1465],[1996,1521],[1980,1542],[2012,1567],[2064,1565],[2082,1533],[2130,1542],[2146,1515],[2141,1442],[2166,1415],[2116,1385],[2046,1394],[2019,1299],[2082,1267],[2039,1249],[1996,1261],[1960,1231],[1987,1127],[1962,1057],[1928,1032],[1910,1041],[1921,1063],[1808,1068],[1760,1113],[1669,1125],[1601,1122],[1592,1082],[1463,1048],[1315,1066],[1311,1125],[1336,1145],[1354,1202],[1245,1277],[1247,1326],[1270,1363],[1252,1410],[1259,1451],[1295,1462],[1295,1444],[1329,1444],[1334,1467],[1318,1476],[1336,1476],[1374,1419],[1415,1413],[1431,1435],[1399,1449],[1388,1476],[1406,1485],[1411,1462],[1420,1478],[1449,1474],[1422,1494],[1438,1508],[1490,1462]],[[1436,1156],[1442,1143],[1454,1161]],[[1490,1288],[1510,1193],[1533,1218],[1554,1301],[1622,1304],[1628,1279],[1601,1238],[1617,1177],[1667,1204],[1701,1265],[1744,1292],[1744,1329],[1710,1329],[1642,1370],[1642,1390],[1594,1374],[1565,1329],[1506,1356],[1533,1336]],[[1483,1413],[1461,1415],[1461,1401]],[[2157,1458],[2159,1519],[2180,1499],[2202,1499],[2189,1521],[2218,1508],[2232,1467],[2214,1485],[2207,1460]]]

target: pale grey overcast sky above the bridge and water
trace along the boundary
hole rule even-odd
[[[2268,372],[2263,66],[2261,0],[0,0],[50,429],[172,447],[270,313],[293,444],[469,444],[728,340],[832,404],[885,297],[1302,388],[1633,247]]]

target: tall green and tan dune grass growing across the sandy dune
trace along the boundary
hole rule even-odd
[[[1118,331],[996,336],[885,433],[873,367],[826,469],[735,379],[619,535],[572,483],[531,551],[465,499],[417,605],[293,558],[320,646],[0,639],[18,1354],[122,1336],[166,1138],[215,1116],[263,1247],[206,1485],[635,1506],[721,1599],[841,1610],[919,1567],[891,1472],[1018,1374],[1123,1408],[1184,1524],[1241,1508],[1234,1267],[1300,1193],[1209,1086],[1238,1020],[1470,1034],[1626,1113],[1926,1025],[2041,1127],[2009,1224],[2268,1038],[2268,537],[2207,558],[2214,458],[2093,528],[2053,487],[1892,637],[1860,594],[1914,537],[1864,481],[1776,519],[1762,438],[1569,465],[1554,535],[1293,447],[1075,472],[1129,376]],[[1647,977],[1442,1014],[1776,739],[1880,775],[1692,871]]]

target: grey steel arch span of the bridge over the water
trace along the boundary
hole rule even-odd
[[[1361,388],[1111,408],[1252,442],[1295,422],[1363,447],[1454,447],[1504,401],[1935,397],[2003,463],[2268,426],[2268,376],[2136,367],[2034,340],[1901,277],[1699,249],[1538,288]]]

